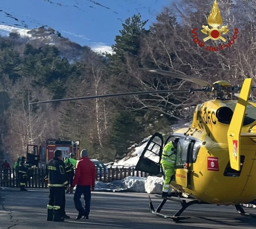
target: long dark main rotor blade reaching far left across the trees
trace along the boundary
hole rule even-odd
[[[193,89],[193,90],[200,91],[201,89]],[[127,92],[127,93],[119,93],[119,94],[108,94],[108,95],[98,95],[98,96],[85,96],[85,97],[78,97],[78,98],[62,98],[62,99],[56,99],[56,100],[34,102],[34,103],[29,103],[29,104],[62,102],[62,101],[70,101],[70,100],[77,100],[77,99],[106,98],[106,97],[115,97],[115,96],[161,94],[161,93],[179,93],[179,92],[190,92],[190,91],[191,90],[185,89],[185,90],[162,90],[162,91],[148,91],[148,92]]]

